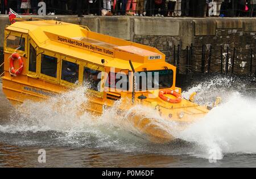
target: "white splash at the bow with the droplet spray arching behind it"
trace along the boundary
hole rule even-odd
[[[197,92],[198,104],[212,104],[218,96],[222,99],[202,120],[177,134],[197,145],[193,155],[220,160],[227,153],[256,154],[256,85],[250,80],[215,76],[183,92],[186,98]],[[246,92],[247,86],[254,93]]]

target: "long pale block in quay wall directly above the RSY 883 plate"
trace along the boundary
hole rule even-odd
[[[135,18],[134,34],[149,36],[178,36],[179,21],[174,19]]]

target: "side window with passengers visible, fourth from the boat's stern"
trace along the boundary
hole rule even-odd
[[[83,84],[90,90],[100,91],[101,88],[101,71],[84,67]]]

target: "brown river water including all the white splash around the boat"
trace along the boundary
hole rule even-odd
[[[256,167],[256,84],[248,81],[217,76],[189,87],[183,97],[196,91],[199,104],[222,103],[168,144],[150,142],[115,107],[77,117],[84,88],[16,109],[0,91],[0,167]]]

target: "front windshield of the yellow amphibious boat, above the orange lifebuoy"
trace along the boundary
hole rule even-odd
[[[136,91],[172,87],[174,71],[154,70],[135,73]]]

